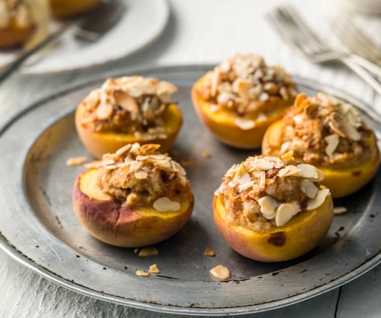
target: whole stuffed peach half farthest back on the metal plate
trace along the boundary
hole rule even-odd
[[[292,105],[296,86],[280,67],[260,56],[236,54],[201,77],[192,88],[201,121],[222,142],[258,148],[266,128]]]

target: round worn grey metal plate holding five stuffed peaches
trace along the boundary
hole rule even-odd
[[[133,249],[92,238],[76,219],[72,186],[82,167],[67,167],[69,157],[88,155],[74,127],[73,111],[103,80],[61,92],[30,106],[0,130],[0,247],[40,275],[79,293],[119,304],[181,314],[228,315],[260,312],[300,302],[344,284],[381,261],[378,196],[380,172],[355,195],[338,200],[349,212],[334,217],[324,242],[289,262],[260,263],[235,253],[220,236],[212,217],[213,192],[232,163],[250,151],[218,142],[204,128],[191,104],[190,88],[212,66],[164,67],[135,72],[179,87],[175,100],[185,123],[173,149],[192,157],[187,167],[195,195],[191,220],[174,237],[157,244],[159,254],[140,258]],[[319,90],[369,107],[349,96],[297,79],[300,91]],[[380,124],[367,116],[377,134]],[[202,152],[212,157],[206,159]],[[90,156],[89,156],[90,157]],[[216,257],[203,255],[206,247]],[[135,276],[157,264],[159,275]],[[217,264],[232,277],[218,282],[209,274]]]

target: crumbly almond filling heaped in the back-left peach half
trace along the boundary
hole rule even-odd
[[[108,79],[81,102],[81,124],[97,132],[134,133],[138,138],[165,138],[163,114],[177,88],[141,76]]]

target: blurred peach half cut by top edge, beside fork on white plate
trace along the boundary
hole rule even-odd
[[[56,18],[68,18],[91,10],[100,0],[49,0]]]

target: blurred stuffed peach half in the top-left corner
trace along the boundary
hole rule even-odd
[[[0,48],[17,46],[35,31],[35,21],[26,1],[0,1]]]

